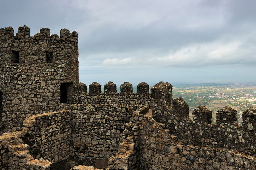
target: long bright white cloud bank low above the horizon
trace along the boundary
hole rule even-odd
[[[157,67],[197,67],[222,64],[256,63],[255,46],[241,47],[242,42],[210,42],[194,44],[171,52],[167,56],[148,57],[134,54],[137,57],[108,58],[103,66],[145,65]]]

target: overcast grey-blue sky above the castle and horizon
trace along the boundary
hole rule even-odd
[[[255,82],[255,0],[0,0],[0,28],[78,33],[79,80]]]

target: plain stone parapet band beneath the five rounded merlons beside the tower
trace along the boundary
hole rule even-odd
[[[78,91],[81,92],[81,91]],[[72,98],[72,103],[79,104],[116,104],[116,105],[149,105],[151,108],[151,96],[150,93],[138,94],[138,93],[76,93]]]

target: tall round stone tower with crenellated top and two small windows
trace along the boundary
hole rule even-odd
[[[70,100],[78,82],[76,31],[61,29],[59,37],[42,28],[30,36],[23,26],[14,36],[13,28],[0,29],[2,128],[20,130],[15,127],[22,127],[25,117],[54,111],[58,103]]]

